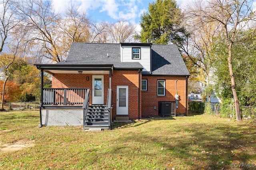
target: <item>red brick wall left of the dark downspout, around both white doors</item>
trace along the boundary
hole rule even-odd
[[[86,81],[86,77],[89,81]],[[140,72],[141,78],[141,72]],[[114,70],[111,78],[112,84],[112,119],[116,119],[116,87],[118,85],[127,85],[128,98],[128,116],[129,119],[138,119],[138,70]],[[52,88],[90,88],[92,89],[92,74],[55,74],[52,76]],[[104,104],[107,102],[109,88],[109,74],[104,74]],[[142,113],[141,106],[142,95],[140,92],[140,117]],[[92,93],[90,93],[90,104]],[[118,115],[118,117],[122,117]]]

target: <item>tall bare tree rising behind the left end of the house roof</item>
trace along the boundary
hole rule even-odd
[[[54,12],[49,0],[23,0],[15,3],[17,13],[26,18],[24,26],[27,35],[27,47],[33,48],[38,44],[41,56],[54,62],[63,60],[63,51],[59,47],[60,37],[57,23],[59,14]]]

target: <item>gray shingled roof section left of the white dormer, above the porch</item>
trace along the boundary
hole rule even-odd
[[[142,68],[139,62],[121,62],[119,43],[72,43],[66,62],[57,64],[113,64],[114,68]]]

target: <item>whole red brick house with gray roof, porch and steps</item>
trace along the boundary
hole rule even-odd
[[[176,45],[72,43],[66,61],[35,64],[40,126],[110,128],[113,120],[188,114],[189,72]]]

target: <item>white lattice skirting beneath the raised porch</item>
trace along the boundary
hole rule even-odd
[[[82,126],[82,109],[42,109],[44,126]]]

